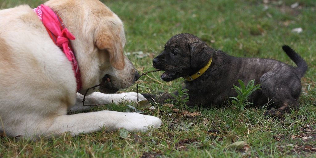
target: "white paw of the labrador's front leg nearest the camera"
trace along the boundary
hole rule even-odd
[[[159,118],[136,112],[126,112],[124,118],[121,127],[128,131],[147,131],[150,128],[159,128],[162,125]]]

